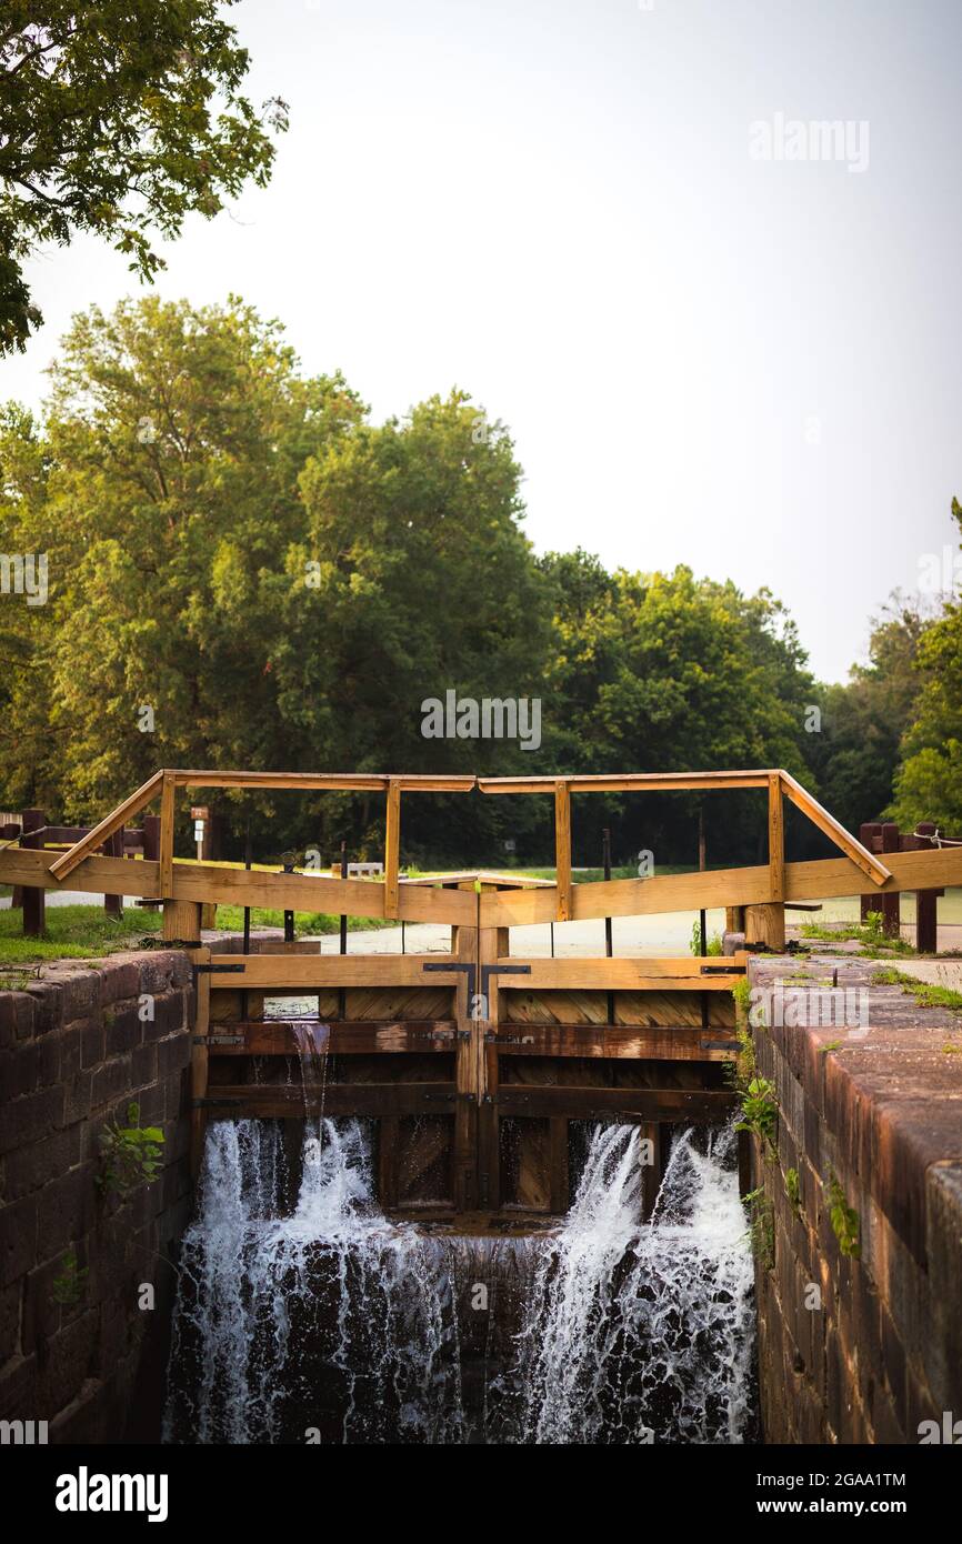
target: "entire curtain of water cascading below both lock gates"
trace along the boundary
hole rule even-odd
[[[740,1442],[752,1263],[730,1133],[684,1133],[639,1224],[639,1135],[598,1126],[564,1223],[428,1232],[374,1201],[368,1130],[210,1127],[184,1238],[174,1442]]]

